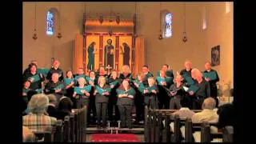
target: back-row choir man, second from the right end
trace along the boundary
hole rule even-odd
[[[186,86],[194,85],[193,78],[191,78],[192,62],[190,60],[186,60],[184,66],[185,69],[181,70],[180,72],[180,74],[184,78],[184,83],[186,84]]]

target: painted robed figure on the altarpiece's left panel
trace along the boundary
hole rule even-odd
[[[87,70],[94,70],[94,55],[96,48],[94,47],[96,45],[96,42],[91,42],[90,46],[88,47],[88,64],[87,64]]]

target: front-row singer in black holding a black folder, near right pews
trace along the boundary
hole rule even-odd
[[[178,74],[175,78],[175,83],[170,86],[170,110],[179,110],[182,108],[181,100],[186,97],[186,91],[183,89],[184,85],[182,80],[182,75]]]

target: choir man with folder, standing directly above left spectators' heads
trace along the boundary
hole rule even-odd
[[[60,82],[58,78],[58,73],[52,74],[51,80],[46,84],[45,90],[46,94],[54,94],[57,98],[57,102],[59,102],[59,99],[62,98],[63,94],[66,94],[64,83]]]

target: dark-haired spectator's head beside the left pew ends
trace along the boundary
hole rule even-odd
[[[73,102],[70,98],[65,96],[60,98],[60,101],[58,103],[57,119],[64,120],[66,115],[70,115],[72,113],[72,106]]]

